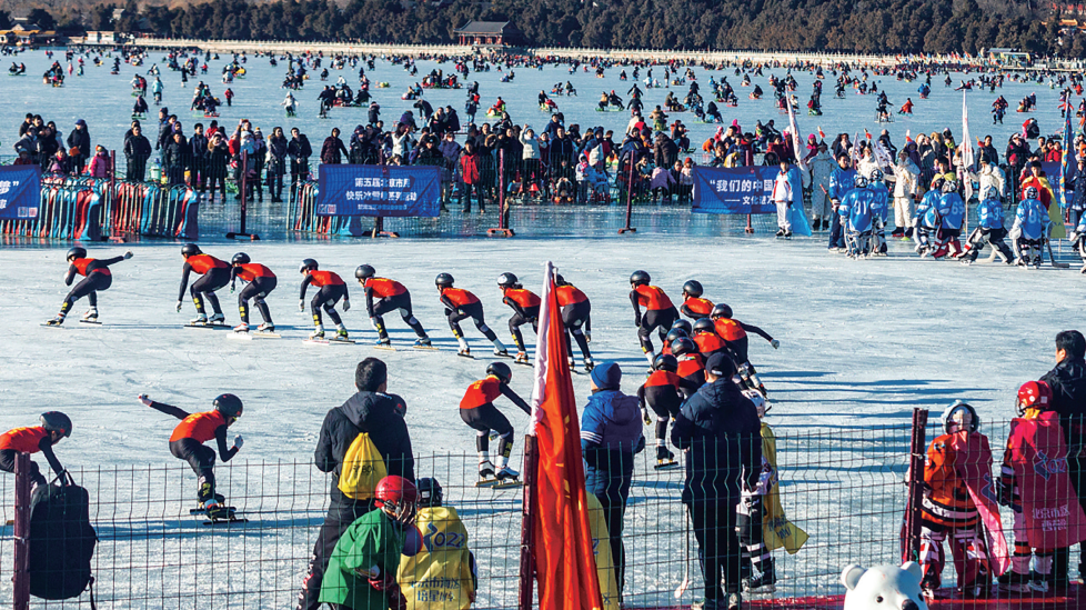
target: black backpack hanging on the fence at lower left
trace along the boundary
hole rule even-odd
[[[41,599],[78,598],[94,581],[98,534],[90,524],[90,497],[64,477],[69,484],[38,486],[30,502],[30,593]]]

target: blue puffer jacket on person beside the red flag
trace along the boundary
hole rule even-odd
[[[581,419],[581,450],[589,464],[591,493],[625,493],[633,476],[633,456],[645,448],[637,397],[601,390],[589,398]]]

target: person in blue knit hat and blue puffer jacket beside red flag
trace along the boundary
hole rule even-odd
[[[623,516],[633,479],[633,457],[645,449],[645,436],[641,430],[637,399],[620,390],[622,369],[619,364],[604,362],[592,369],[590,378],[592,396],[581,419],[585,484],[603,506],[621,600],[625,584]]]

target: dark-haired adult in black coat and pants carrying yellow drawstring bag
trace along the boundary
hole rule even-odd
[[[354,439],[363,433],[370,433],[370,440],[376,447],[390,476],[403,477],[409,481],[415,480],[414,458],[411,452],[411,436],[408,424],[403,421],[403,400],[395,394],[388,394],[389,370],[384,362],[376,358],[366,358],[359,362],[354,371],[354,387],[358,393],[342,406],[328,412],[321,433],[316,441],[314,460],[321,472],[332,473],[332,486],[329,491],[331,503],[321,533],[313,547],[313,558],[309,576],[303,581],[302,591],[298,598],[299,610],[318,610],[321,592],[321,581],[328,569],[328,561],[335,549],[340,536],[366,512],[376,508],[373,500],[353,500],[340,491],[340,470],[343,458]]]

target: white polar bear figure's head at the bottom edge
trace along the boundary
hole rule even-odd
[[[921,593],[919,563],[876,566],[869,570],[853,563],[841,572],[845,593],[844,610],[927,610]]]

